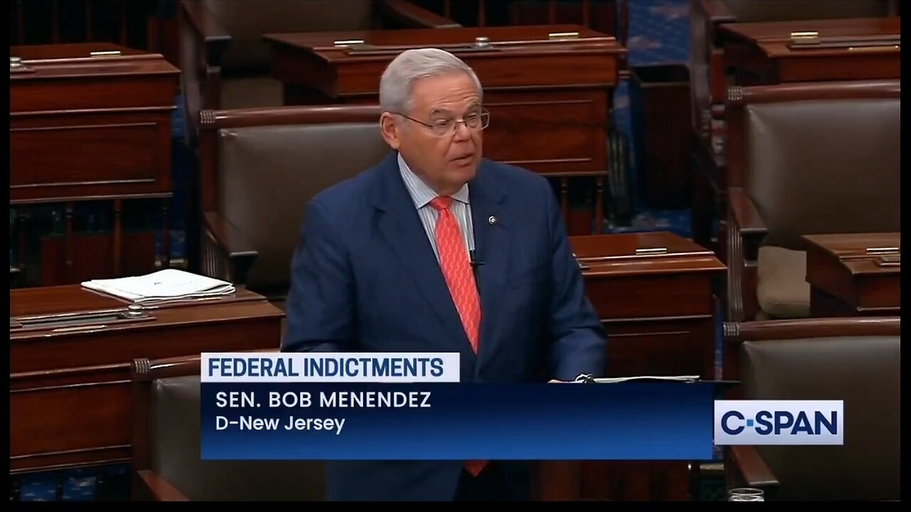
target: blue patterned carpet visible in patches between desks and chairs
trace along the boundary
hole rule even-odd
[[[630,66],[659,64],[684,64],[689,61],[690,35],[687,0],[630,0]],[[179,105],[179,98],[177,98]],[[631,138],[629,84],[622,84],[615,98],[616,125],[627,134],[630,144],[641,141]],[[189,151],[183,144],[183,119],[179,109],[174,117],[174,182],[184,183],[193,165]],[[634,151],[630,148],[630,155]],[[630,159],[631,189],[636,190],[637,162]],[[182,221],[185,192],[178,189],[172,212],[171,254],[184,256]],[[654,210],[645,201],[634,198],[635,215],[628,226],[608,226],[610,231],[670,230],[683,237],[690,236],[689,210]],[[721,324],[717,339],[721,340]],[[721,343],[719,343],[720,350]],[[720,356],[719,356],[720,360]],[[51,472],[12,478],[10,500],[21,501],[121,501],[128,499],[129,468],[113,466]],[[718,500],[717,478],[704,479],[700,500]],[[723,497],[721,497],[723,499]]]

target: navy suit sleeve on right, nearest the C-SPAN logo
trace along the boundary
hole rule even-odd
[[[589,302],[582,272],[569,248],[563,215],[546,190],[551,247],[550,368],[552,378],[571,381],[579,374],[601,376],[607,364],[607,333]]]

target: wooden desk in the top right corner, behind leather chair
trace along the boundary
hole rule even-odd
[[[722,25],[724,61],[739,86],[901,77],[898,17]],[[795,33],[817,33],[800,44]]]

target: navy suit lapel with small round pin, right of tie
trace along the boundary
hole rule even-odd
[[[483,262],[477,271],[481,292],[481,339],[476,368],[480,369],[484,360],[496,353],[494,329],[503,303],[509,268],[509,224],[516,220],[509,218],[503,204],[505,191],[484,163],[468,188],[476,260]]]

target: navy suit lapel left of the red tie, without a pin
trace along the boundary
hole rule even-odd
[[[474,357],[439,262],[415,210],[415,203],[399,174],[397,154],[393,152],[384,159],[378,170],[380,176],[374,193],[374,206],[380,210],[377,224],[380,232],[417,289],[430,303],[442,323],[440,332],[448,334],[460,353]]]

